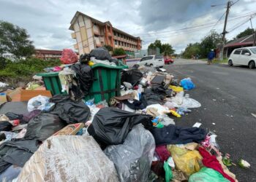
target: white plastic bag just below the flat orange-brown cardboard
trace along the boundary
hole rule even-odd
[[[28,111],[34,111],[39,109],[41,111],[49,111],[51,107],[54,106],[54,103],[49,103],[48,97],[38,95],[37,97],[29,99],[28,102]]]

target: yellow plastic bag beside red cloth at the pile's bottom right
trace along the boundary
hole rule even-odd
[[[189,151],[174,145],[168,145],[167,149],[173,157],[176,168],[186,175],[192,175],[203,167],[203,157],[201,157],[199,151]]]

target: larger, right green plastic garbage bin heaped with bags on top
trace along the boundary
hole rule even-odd
[[[128,68],[123,64],[120,66],[108,66],[105,64],[95,64],[91,66],[94,71],[94,82],[86,95],[85,100],[94,98],[94,103],[120,95],[121,70]]]

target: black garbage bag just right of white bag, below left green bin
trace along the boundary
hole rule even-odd
[[[67,124],[87,122],[90,117],[90,108],[83,101],[75,102],[68,95],[54,95],[50,103],[55,103],[51,114],[57,114]]]

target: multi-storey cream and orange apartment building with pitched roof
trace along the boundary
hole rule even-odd
[[[123,48],[129,52],[141,49],[139,36],[135,37],[118,30],[109,21],[103,23],[81,12],[76,12],[70,24],[69,30],[74,31],[71,33],[72,39],[76,39],[77,42],[74,48],[78,50],[79,55],[104,45],[110,45],[113,49]]]

